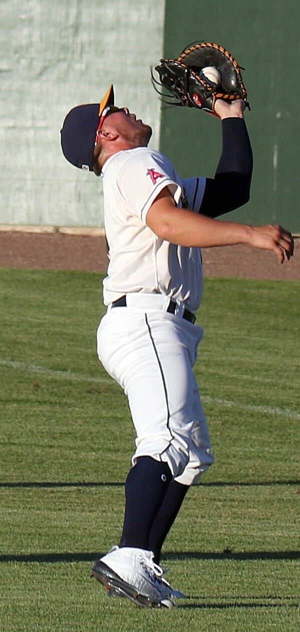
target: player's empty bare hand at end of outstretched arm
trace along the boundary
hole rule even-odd
[[[285,258],[289,260],[294,254],[292,234],[282,226],[267,224],[267,226],[251,226],[250,228],[249,245],[253,248],[273,250],[280,264],[283,264]]]

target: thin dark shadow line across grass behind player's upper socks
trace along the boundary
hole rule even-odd
[[[201,487],[270,487],[272,485],[300,485],[300,480],[270,480],[270,481],[256,481],[256,482],[227,482],[227,481],[215,481],[208,483],[201,483],[198,485],[198,489]],[[13,487],[124,487],[124,482],[104,482],[104,481],[42,481],[42,482],[0,482],[0,488],[13,488]],[[193,488],[197,489],[197,488]]]

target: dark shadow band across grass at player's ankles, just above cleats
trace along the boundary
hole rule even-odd
[[[36,553],[30,555],[7,554],[0,556],[0,562],[38,562],[40,564],[56,564],[57,562],[93,562],[95,559],[102,557],[104,553]],[[300,559],[300,551],[251,551],[243,553],[233,553],[225,550],[220,553],[215,552],[169,552],[162,556],[164,560],[183,560],[183,559],[200,559],[200,560],[286,560]]]

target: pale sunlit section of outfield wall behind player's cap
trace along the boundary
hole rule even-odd
[[[102,183],[63,157],[76,104],[117,103],[153,126],[150,64],[162,56],[164,0],[0,0],[0,224],[99,226]]]

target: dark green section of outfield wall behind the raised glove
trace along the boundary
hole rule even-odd
[[[300,233],[299,0],[166,0],[164,54],[196,40],[227,47],[244,71],[246,112],[255,156],[251,201],[229,217],[277,222]],[[217,119],[163,109],[160,149],[184,176],[213,176],[220,151]],[[224,216],[226,217],[226,216]]]

